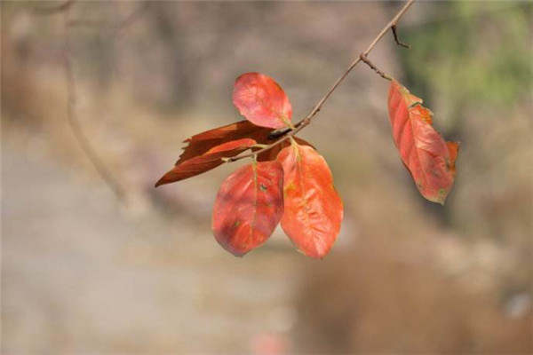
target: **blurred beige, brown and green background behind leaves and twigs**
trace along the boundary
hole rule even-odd
[[[211,206],[241,162],[153,185],[184,139],[242,119],[235,77],[274,77],[299,119],[401,3],[60,4],[1,3],[4,354],[533,351],[531,3],[416,3],[411,49],[370,54],[461,141],[445,206],[402,166],[370,68],[302,131],[345,203],[322,261],[280,230],[219,247]]]

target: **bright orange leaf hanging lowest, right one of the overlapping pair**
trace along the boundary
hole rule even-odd
[[[296,143],[277,160],[284,174],[283,231],[306,256],[322,258],[337,239],[343,217],[330,168],[312,147]]]

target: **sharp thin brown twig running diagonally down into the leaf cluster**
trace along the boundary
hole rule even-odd
[[[255,152],[252,152],[252,153],[249,153],[249,154],[243,154],[243,155],[239,155],[239,156],[235,156],[235,157],[229,158],[227,160],[227,162],[236,162],[238,160],[241,160],[241,159],[244,159],[244,158],[249,158],[251,156],[255,156],[255,155],[261,154],[263,152],[266,152],[267,150],[273,148],[274,146],[279,145],[280,143],[282,143],[286,139],[294,136],[300,130],[302,130],[304,127],[306,127],[309,123],[311,123],[311,121],[313,120],[314,115],[317,114],[321,110],[322,105],[328,99],[330,99],[330,96],[333,93],[333,91],[335,91],[338,88],[338,85],[343,82],[343,80],[346,78],[346,76],[348,74],[350,74],[352,69],[354,69],[354,67],[357,64],[359,64],[359,62],[363,61],[363,58],[367,59],[367,61],[366,61],[367,64],[370,63],[370,60],[368,60],[368,55],[370,54],[370,51],[372,51],[374,49],[376,44],[378,44],[378,42],[381,40],[381,38],[383,38],[383,36],[385,36],[387,31],[389,31],[391,28],[393,28],[393,27],[395,27],[397,25],[398,21],[402,18],[403,14],[409,10],[410,5],[412,5],[414,2],[415,2],[415,0],[409,0],[406,4],[403,5],[402,9],[400,9],[400,11],[398,13],[396,13],[396,15],[394,15],[394,18],[392,20],[390,20],[386,24],[386,26],[381,30],[381,32],[379,32],[378,36],[376,36],[374,38],[374,40],[369,44],[369,46],[364,51],[362,51],[362,53],[359,55],[359,57],[354,59],[354,61],[352,62],[352,64],[350,64],[349,67],[346,68],[346,71],[343,73],[343,75],[340,75],[340,77],[331,86],[330,90],[326,92],[326,94],[322,97],[322,99],[320,99],[318,101],[318,103],[316,105],[314,105],[314,107],[311,110],[311,112],[309,114],[307,114],[306,117],[304,117],[303,119],[301,119],[298,123],[296,123],[294,125],[294,127],[295,127],[294,130],[290,130],[290,129],[287,130],[287,132],[286,132],[286,134],[284,136],[282,136],[281,138],[278,138],[274,143],[272,143],[272,144],[270,144],[270,145],[268,145],[268,146],[266,146],[266,147],[264,147],[262,149],[259,149],[259,150],[255,151]],[[377,68],[375,66],[372,65],[371,67],[374,70],[377,70]],[[383,74],[383,72],[381,72],[381,71],[378,71],[378,74],[380,74],[383,77],[385,77],[384,76],[385,74]],[[390,80],[390,78],[388,78],[388,80]]]

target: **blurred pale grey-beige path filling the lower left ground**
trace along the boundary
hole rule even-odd
[[[288,332],[303,256],[235,258],[208,232],[131,217],[105,186],[4,146],[2,352],[249,352]]]

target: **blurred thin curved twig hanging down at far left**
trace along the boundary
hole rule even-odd
[[[72,4],[72,3],[70,3]],[[82,128],[82,125],[79,122],[77,112],[76,112],[76,81],[74,77],[74,70],[72,68],[72,61],[70,59],[70,45],[69,45],[69,28],[70,28],[70,20],[69,20],[69,8],[65,8],[64,12],[64,21],[65,21],[65,27],[64,27],[64,47],[63,47],[63,55],[64,55],[64,67],[65,67],[65,77],[67,80],[67,95],[68,95],[68,102],[67,102],[67,117],[68,117],[68,124],[70,125],[70,128],[72,129],[72,132],[74,133],[74,136],[76,137],[77,141],[79,142],[80,146],[82,147],[84,154],[87,155],[89,160],[91,161],[94,168],[99,173],[99,176],[102,177],[104,182],[109,186],[109,188],[115,193],[116,198],[123,202],[125,204],[125,197],[126,193],[123,189],[123,187],[119,184],[118,180],[115,179],[113,174],[107,169],[104,162],[101,161],[99,158],[99,155],[96,153],[96,150],[91,145],[91,141],[84,133],[84,130]]]

